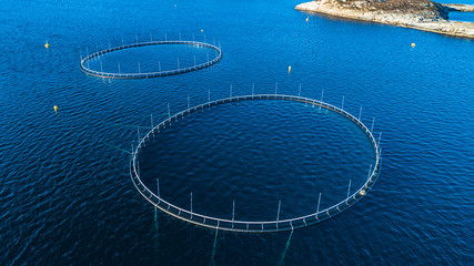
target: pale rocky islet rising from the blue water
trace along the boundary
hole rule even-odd
[[[472,4],[444,4],[430,0],[316,0],[301,3],[295,9],[474,39],[473,22],[448,20],[452,11],[474,12]]]

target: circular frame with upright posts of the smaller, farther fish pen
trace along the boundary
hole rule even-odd
[[[140,69],[140,64],[137,68],[137,72],[128,72],[128,71],[121,71],[120,63],[114,72],[104,71],[102,69],[102,61],[101,58],[105,54],[112,54],[113,52],[127,50],[127,49],[134,49],[134,48],[142,48],[142,47],[152,47],[152,45],[188,45],[188,47],[194,47],[194,48],[208,48],[213,50],[213,53],[206,54],[205,62],[196,62],[195,57],[192,65],[180,65],[180,61],[178,59],[177,68],[174,69],[167,69],[162,70],[162,66],[160,65],[160,62],[155,62],[155,71],[145,71],[142,72]],[[222,51],[220,47],[205,43],[205,42],[198,42],[198,41],[181,41],[181,40],[167,40],[167,41],[148,41],[148,42],[137,42],[131,44],[124,44],[120,47],[109,48],[102,51],[94,52],[92,54],[87,55],[85,58],[81,59],[80,69],[82,72],[100,76],[100,78],[108,78],[108,79],[149,79],[149,78],[157,78],[157,76],[165,76],[165,75],[174,75],[174,74],[182,74],[191,71],[201,70],[208,66],[211,66],[219,62],[222,58]],[[91,68],[90,62],[98,61],[99,62],[99,70],[94,70]]]

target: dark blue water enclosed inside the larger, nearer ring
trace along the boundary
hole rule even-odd
[[[355,123],[312,104],[250,101],[167,125],[139,154],[140,177],[171,204],[236,219],[275,221],[325,209],[365,185],[372,142]],[[159,181],[157,178],[159,177]],[[351,184],[350,184],[351,183]],[[351,193],[351,195],[352,195]],[[216,204],[219,203],[219,204]]]

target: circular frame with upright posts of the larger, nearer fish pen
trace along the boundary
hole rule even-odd
[[[252,219],[244,217],[244,219],[239,219],[235,215],[235,202],[232,206],[232,213],[229,211],[228,215],[204,215],[201,213],[198,213],[193,211],[193,198],[191,193],[191,198],[188,198],[186,201],[190,201],[190,204],[173,204],[172,200],[168,196],[164,197],[163,191],[160,193],[160,176],[157,177],[157,182],[153,185],[150,185],[150,182],[144,180],[141,176],[140,173],[140,165],[139,165],[139,156],[142,153],[143,147],[148,144],[148,142],[152,141],[154,137],[160,136],[160,134],[165,133],[170,129],[173,129],[173,125],[179,123],[179,121],[188,121],[190,117],[192,119],[193,115],[203,112],[205,110],[213,110],[219,108],[228,108],[228,104],[232,103],[239,103],[244,104],[249,101],[268,101],[268,100],[278,100],[281,101],[288,101],[288,102],[299,102],[304,103],[305,105],[310,106],[312,105],[317,106],[321,110],[325,110],[326,113],[333,114],[336,117],[339,122],[341,121],[350,121],[350,125],[355,130],[359,131],[359,133],[362,136],[362,140],[366,143],[367,151],[371,151],[371,165],[369,167],[369,172],[365,172],[365,174],[362,175],[361,182],[359,184],[351,184],[351,181],[349,184],[345,185],[345,191],[343,192],[343,195],[339,195],[336,201],[334,201],[334,204],[331,203],[330,206],[322,206],[321,204],[321,193],[319,194],[319,198],[314,202],[314,209],[312,212],[303,213],[301,215],[294,215],[294,217],[290,218],[281,218],[280,214],[280,204],[278,204],[278,209],[268,209],[263,208],[260,209],[260,212],[269,212],[272,213],[271,216],[265,217],[275,217],[270,219]],[[273,103],[272,103],[273,104]],[[274,103],[275,105],[278,104]],[[337,122],[337,123],[339,123]],[[224,123],[224,122],[223,122]],[[355,126],[354,126],[355,125]],[[186,127],[186,130],[189,130]],[[232,232],[249,232],[249,233],[262,233],[262,232],[280,232],[280,231],[289,231],[294,228],[301,228],[310,225],[317,224],[322,221],[329,219],[333,217],[334,215],[337,215],[352,205],[354,205],[356,202],[359,202],[362,197],[364,197],[367,192],[371,190],[371,187],[374,185],[375,181],[377,180],[377,176],[381,171],[382,166],[382,156],[381,156],[381,149],[380,149],[380,136],[379,140],[375,140],[372,134],[372,129],[370,130],[366,125],[364,125],[360,117],[355,117],[354,115],[350,114],[349,112],[344,111],[343,108],[337,108],[332,104],[302,98],[302,96],[293,96],[293,95],[282,95],[282,94],[254,94],[254,95],[242,95],[242,96],[230,96],[216,101],[210,101],[193,108],[188,108],[186,110],[179,112],[174,115],[169,114],[169,117],[159,123],[158,125],[152,124],[152,129],[143,136],[139,136],[139,144],[132,149],[132,160],[130,164],[130,176],[131,180],[137,187],[137,190],[140,192],[140,194],[149,201],[151,204],[153,204],[157,208],[161,209],[162,212],[174,216],[179,219],[209,227],[214,229],[223,229],[223,231],[232,231]],[[356,133],[356,132],[355,132]],[[354,134],[352,132],[351,134]],[[152,144],[153,142],[151,142]],[[182,147],[186,149],[186,147]],[[291,152],[291,151],[289,151]],[[369,165],[367,165],[369,166]],[[222,170],[226,171],[226,170]],[[337,177],[337,176],[334,176]],[[270,178],[270,177],[269,177]],[[173,182],[173,181],[170,181]],[[199,181],[201,182],[201,181]],[[178,206],[180,205],[180,206]],[[185,206],[185,207],[183,207]],[[273,216],[273,213],[276,214]],[[223,217],[226,216],[226,217]]]

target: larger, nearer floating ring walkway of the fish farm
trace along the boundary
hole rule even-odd
[[[319,204],[317,204],[317,211],[315,213],[311,213],[304,216],[294,217],[290,219],[275,219],[275,221],[238,221],[238,219],[233,219],[233,217],[232,219],[226,219],[226,218],[201,215],[199,213],[193,213],[192,206],[191,206],[191,209],[184,209],[173,204],[170,204],[164,198],[160,197],[159,191],[157,195],[157,193],[153,193],[143,184],[142,180],[140,178],[140,171],[138,167],[138,155],[140,153],[141,147],[144,146],[145,142],[150,139],[152,134],[160,133],[160,131],[165,130],[167,126],[169,126],[173,120],[177,121],[179,117],[182,117],[193,112],[198,112],[205,108],[211,108],[211,106],[231,103],[231,102],[250,101],[250,100],[285,100],[285,101],[307,103],[307,104],[324,108],[326,110],[341,114],[346,119],[349,119],[350,121],[352,121],[366,134],[366,136],[372,143],[373,151],[375,153],[375,162],[373,164],[374,167],[371,166],[371,168],[369,170],[369,175],[365,183],[352,194],[350,194],[350,192],[347,191],[347,197],[345,197],[343,201],[339,202],[337,204],[331,207],[320,211]],[[379,142],[380,142],[380,139],[379,139]],[[374,185],[375,181],[377,180],[377,176],[382,167],[382,156],[381,156],[381,149],[380,149],[379,142],[375,141],[369,127],[365,126],[354,115],[350,114],[343,109],[336,108],[332,104],[329,104],[322,101],[312,100],[312,99],[302,98],[302,96],[292,96],[292,95],[282,95],[282,94],[255,94],[255,95],[244,95],[244,96],[231,96],[231,98],[221,99],[216,101],[210,101],[210,102],[196,105],[194,108],[189,108],[174,115],[169,115],[167,120],[162,121],[157,126],[153,126],[153,129],[149,131],[144,137],[140,139],[138,146],[132,151],[132,160],[130,164],[130,176],[137,190],[147,201],[149,201],[151,204],[153,204],[155,207],[160,208],[164,213],[172,215],[179,219],[193,223],[200,226],[209,227],[209,228],[232,231],[232,232],[262,233],[262,232],[289,231],[289,229],[294,229],[300,227],[306,227],[310,225],[317,224],[322,221],[329,219],[334,215],[344,212],[345,209],[354,205],[356,202],[359,202],[363,196],[365,196],[367,192],[371,190],[371,187]]]

